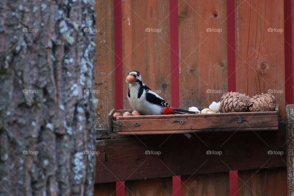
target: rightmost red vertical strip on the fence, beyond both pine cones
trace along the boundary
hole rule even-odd
[[[292,5],[284,0],[284,36],[285,36],[285,101],[293,104],[293,53],[292,53]]]

